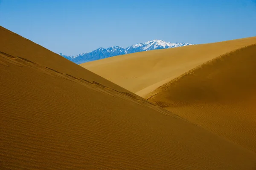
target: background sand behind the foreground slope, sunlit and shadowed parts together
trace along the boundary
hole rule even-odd
[[[249,37],[138,52],[81,66],[256,152],[255,44],[256,37]]]

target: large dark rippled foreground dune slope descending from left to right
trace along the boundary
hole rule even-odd
[[[0,27],[1,170],[254,170],[256,154]]]

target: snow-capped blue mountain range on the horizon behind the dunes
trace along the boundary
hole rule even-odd
[[[62,53],[58,53],[58,55],[61,55],[64,58],[67,58],[70,61],[73,61],[74,63],[81,64],[89,61],[99,60],[103,58],[113,57],[116,55],[124,55],[134,52],[143,52],[143,51],[149,51],[154,49],[168,49],[168,48],[175,48],[180,46],[189,46],[193,45],[191,43],[169,43],[163,40],[151,40],[146,43],[138,43],[132,46],[128,46],[127,48],[122,48],[119,46],[111,46],[107,49],[100,47],[99,49],[96,49],[89,53],[81,53],[79,55],[72,55],[67,56]]]

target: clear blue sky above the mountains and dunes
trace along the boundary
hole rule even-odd
[[[0,0],[0,25],[66,55],[153,39],[200,44],[256,36],[256,0]]]

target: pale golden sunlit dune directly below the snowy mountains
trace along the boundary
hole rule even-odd
[[[190,69],[253,43],[256,43],[256,37],[137,52],[83,63],[81,66],[145,97]]]

